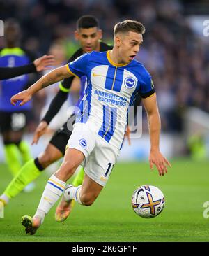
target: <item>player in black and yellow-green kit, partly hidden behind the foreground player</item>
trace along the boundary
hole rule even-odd
[[[74,61],[84,52],[91,52],[92,50],[104,52],[112,48],[111,46],[100,42],[100,39],[102,38],[102,31],[100,30],[98,20],[91,15],[84,15],[79,18],[77,21],[75,37],[82,47],[79,48],[79,50],[77,50],[77,52],[75,52],[72,57],[70,57],[68,62]],[[62,83],[60,83],[59,92],[52,100],[52,103],[49,106],[49,110],[47,111],[45,117],[42,118],[40,125],[38,125],[38,128],[36,129],[33,137],[33,143],[38,143],[38,139],[40,136],[42,136],[42,134],[45,133],[49,122],[51,122],[65,100],[68,98],[68,93],[70,91],[73,79],[75,78],[66,78]],[[85,85],[86,76],[83,76],[81,78],[80,100],[84,96]],[[77,106],[79,106],[79,101],[77,102]],[[72,115],[69,120],[73,118],[74,115]],[[41,152],[36,159],[31,159],[29,162],[26,162],[24,166],[22,166],[22,169],[20,169],[19,173],[17,173],[17,176],[15,176],[15,178],[13,178],[10,184],[6,187],[6,190],[0,197],[0,201],[2,201],[5,205],[8,204],[11,198],[15,197],[19,192],[21,192],[27,184],[31,183],[32,180],[35,180],[40,175],[40,173],[42,173],[42,171],[47,168],[47,166],[63,157],[63,155],[65,155],[65,148],[68,144],[70,135],[71,131],[68,129],[66,122],[63,127],[56,131],[51,141],[49,141],[47,148],[45,148],[45,150]],[[84,171],[81,169],[75,179],[72,181],[72,184],[81,185],[83,177]],[[71,210],[70,206],[68,207],[69,213]],[[56,220],[59,221],[59,216]]]

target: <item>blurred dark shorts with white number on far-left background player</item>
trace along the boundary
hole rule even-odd
[[[1,133],[6,131],[23,131],[28,124],[31,111],[0,111],[0,130]]]

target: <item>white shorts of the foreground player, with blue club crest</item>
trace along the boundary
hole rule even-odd
[[[68,148],[75,148],[84,154],[85,159],[81,165],[84,166],[85,173],[104,187],[120,150],[109,145],[95,131],[91,131],[86,123],[76,123],[73,126]]]

